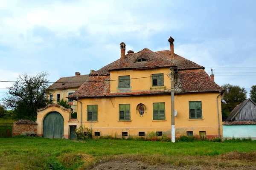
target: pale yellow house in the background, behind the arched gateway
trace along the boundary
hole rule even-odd
[[[61,99],[67,100],[73,109],[73,112],[77,112],[77,101],[73,99],[67,99],[68,96],[73,94],[88,78],[88,74],[81,75],[76,72],[75,76],[62,77],[53,83],[47,91],[49,91],[49,99],[53,103],[59,102]]]

